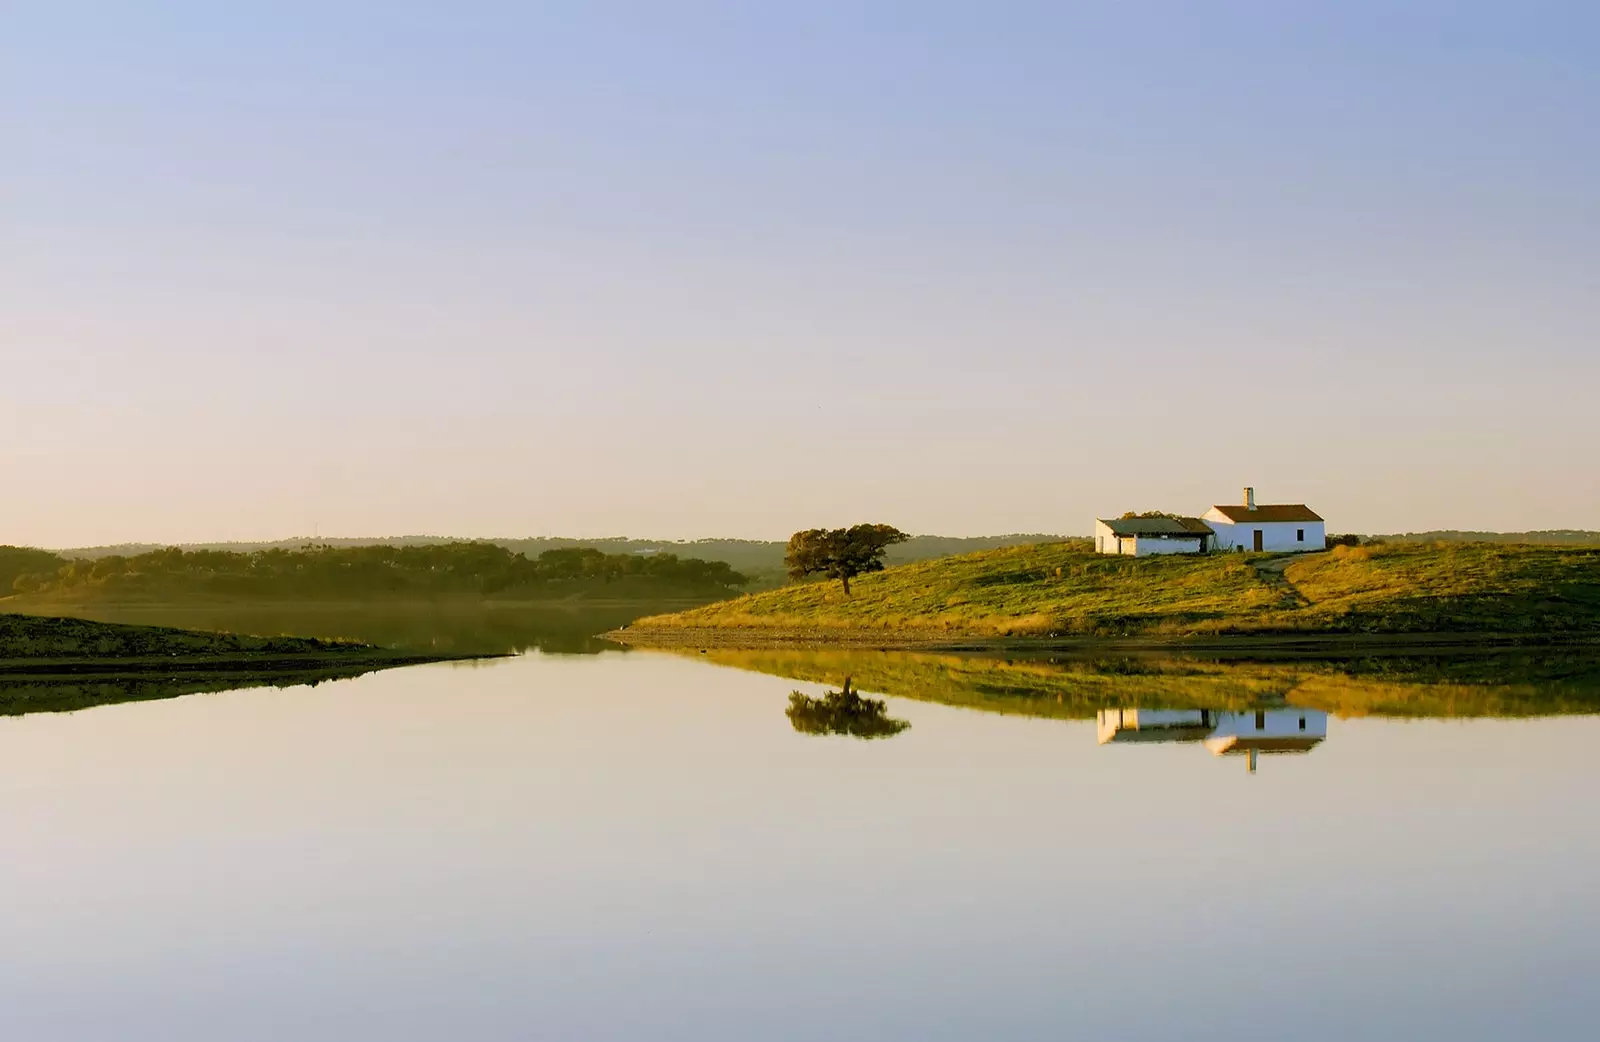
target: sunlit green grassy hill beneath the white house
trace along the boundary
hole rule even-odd
[[[806,583],[640,619],[768,639],[1211,634],[1600,634],[1600,549],[1509,544],[1110,557],[1035,544]]]

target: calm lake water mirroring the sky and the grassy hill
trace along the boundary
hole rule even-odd
[[[1600,719],[1075,669],[533,651],[0,719],[0,1037],[1595,1037]],[[909,727],[798,731],[845,674]]]

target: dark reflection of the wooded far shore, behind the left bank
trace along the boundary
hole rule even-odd
[[[360,640],[389,648],[454,655],[512,655],[541,650],[595,655],[618,650],[597,634],[616,629],[651,605],[558,608],[539,605],[437,603],[219,603],[88,605],[72,615],[101,623],[179,626],[256,635]]]

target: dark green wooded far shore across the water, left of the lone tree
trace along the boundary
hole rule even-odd
[[[651,587],[722,592],[747,583],[722,560],[606,554],[582,546],[528,559],[493,543],[304,546],[250,554],[166,547],[93,560],[0,547],[0,581],[5,579],[10,579],[10,591],[19,594],[102,587],[219,595],[515,595],[626,579]]]

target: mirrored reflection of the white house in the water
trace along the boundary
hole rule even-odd
[[[1099,744],[1200,743],[1216,755],[1242,755],[1251,773],[1261,755],[1310,752],[1328,738],[1320,709],[1101,709]]]

